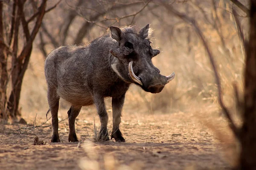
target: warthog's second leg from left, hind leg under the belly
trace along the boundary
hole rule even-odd
[[[69,132],[69,135],[68,135],[68,142],[79,142],[79,140],[76,137],[75,122],[76,122],[76,117],[79,115],[80,111],[81,111],[81,107],[71,106],[70,110],[67,112],[67,114],[68,114],[68,125],[69,125],[69,128],[70,128],[70,132]]]

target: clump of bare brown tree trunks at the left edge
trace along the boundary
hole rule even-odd
[[[22,86],[23,77],[25,74],[25,71],[28,67],[30,55],[32,52],[32,44],[35,40],[35,36],[38,33],[39,28],[41,27],[41,22],[43,20],[44,14],[45,14],[45,8],[46,8],[47,0],[41,1],[41,6],[38,8],[38,12],[35,12],[32,17],[30,18],[37,18],[35,20],[34,27],[30,30],[29,29],[29,22],[26,20],[26,16],[24,13],[24,4],[25,1],[15,0],[13,2],[13,11],[12,11],[12,19],[11,19],[11,30],[6,37],[3,38],[3,5],[0,1],[0,109],[1,113],[5,111],[5,117],[3,119],[8,119],[8,117],[16,118],[17,116],[20,116],[20,113],[18,111],[19,108],[19,101],[20,101],[20,91]],[[6,19],[6,18],[4,18]],[[7,20],[7,19],[6,19]],[[5,21],[8,23],[8,20]],[[20,50],[19,47],[19,27],[20,23],[22,26],[23,34],[26,37],[26,42],[23,45],[23,49]],[[13,39],[13,43],[12,43]],[[8,40],[8,44],[5,42],[5,40]],[[18,52],[20,54],[18,54]],[[6,55],[3,55],[6,54]],[[12,89],[11,94],[7,102],[6,97],[6,85],[9,80],[9,75],[7,72],[7,57],[12,57],[12,71],[11,77],[12,77]],[[3,59],[2,59],[3,58]],[[5,89],[5,91],[3,91]],[[4,94],[2,93],[4,92]],[[4,96],[4,97],[3,97]],[[5,101],[3,101],[5,100]],[[7,105],[7,106],[6,106]]]

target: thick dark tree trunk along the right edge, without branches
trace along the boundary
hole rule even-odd
[[[251,0],[250,36],[246,49],[244,114],[241,128],[240,169],[256,169],[256,0]]]

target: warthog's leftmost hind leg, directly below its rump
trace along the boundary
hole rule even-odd
[[[52,139],[51,142],[60,142],[58,135],[58,106],[60,97],[56,93],[56,89],[48,87],[47,99],[52,114]]]

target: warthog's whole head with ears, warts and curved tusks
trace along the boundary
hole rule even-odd
[[[149,24],[138,33],[131,27],[120,29],[111,26],[111,37],[119,42],[119,46],[110,49],[110,52],[125,67],[118,72],[122,79],[140,85],[147,92],[160,93],[164,86],[174,79],[175,73],[168,77],[163,76],[153,65],[151,59],[160,51],[151,48],[148,29]]]

